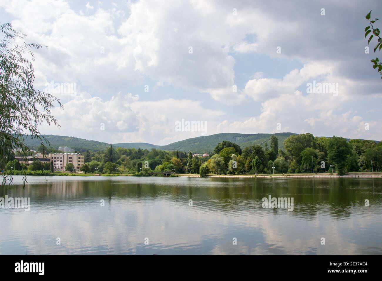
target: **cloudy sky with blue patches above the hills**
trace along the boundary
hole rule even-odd
[[[34,50],[34,86],[63,109],[52,109],[60,127],[41,124],[42,134],[155,145],[228,132],[382,140],[370,10],[381,17],[382,2],[0,0],[0,23],[47,46]]]

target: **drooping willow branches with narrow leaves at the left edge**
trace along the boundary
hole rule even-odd
[[[24,133],[43,144],[38,126],[42,123],[57,124],[50,110],[61,103],[50,94],[34,88],[34,55],[31,48],[41,49],[40,44],[26,44],[25,35],[12,29],[10,23],[0,25],[3,39],[0,41],[0,169],[19,151],[23,156],[32,155],[24,144]],[[29,59],[31,58],[31,59]],[[3,184],[8,172],[4,171]],[[25,188],[26,180],[24,180]]]

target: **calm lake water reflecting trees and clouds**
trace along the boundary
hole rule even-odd
[[[0,254],[382,254],[382,179],[21,179],[0,197],[31,210],[0,208]]]

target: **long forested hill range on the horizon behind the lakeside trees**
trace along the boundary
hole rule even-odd
[[[296,135],[295,133],[276,133],[274,134],[278,138],[278,148],[284,148],[284,140],[290,135]],[[100,141],[86,140],[83,138],[75,138],[72,136],[56,136],[56,135],[43,135],[52,144],[52,148],[58,149],[59,146],[68,146],[75,149],[78,152],[89,151],[102,151],[110,146],[108,143]],[[221,133],[210,136],[198,136],[196,138],[188,138],[183,141],[177,141],[170,143],[169,145],[152,145],[150,143],[115,143],[115,147],[123,148],[141,148],[152,149],[157,148],[161,150],[179,150],[179,151],[191,151],[192,153],[209,153],[212,152],[215,146],[223,141],[231,141],[237,143],[243,149],[251,145],[264,146],[265,142],[270,145],[270,136],[272,134],[238,134],[238,133]],[[31,149],[37,149],[40,142],[35,139],[27,138],[26,145]]]

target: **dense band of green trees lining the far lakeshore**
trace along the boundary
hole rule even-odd
[[[233,146],[229,146],[233,145]],[[350,140],[333,136],[314,137],[310,133],[290,135],[280,149],[277,137],[271,137],[270,148],[253,145],[244,148],[230,141],[218,143],[208,157],[195,156],[188,151],[163,151],[152,148],[115,148],[109,145],[104,151],[87,152],[84,173],[134,174],[136,176],[161,175],[158,172],[177,174],[293,174],[380,171],[382,168],[382,143],[369,140]],[[268,150],[267,150],[268,149]],[[277,150],[277,153],[275,152]],[[17,160],[8,162],[14,170],[25,169]],[[35,161],[28,171],[49,171],[50,163]],[[66,171],[74,167],[66,166]]]

